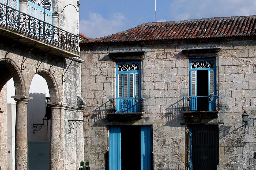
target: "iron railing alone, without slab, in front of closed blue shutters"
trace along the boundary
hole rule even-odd
[[[109,113],[142,113],[144,98],[109,98]]]

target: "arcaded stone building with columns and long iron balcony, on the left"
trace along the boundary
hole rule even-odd
[[[38,1],[38,4],[37,1],[28,0],[7,1],[7,5],[0,3],[3,14],[0,22],[2,170],[8,169],[5,84],[13,78],[13,98],[17,101],[15,169],[24,170],[28,169],[29,162],[27,104],[32,99],[29,88],[35,74],[45,78],[50,91],[50,102],[47,102],[51,108],[50,169],[78,169],[83,160],[82,125],[70,129],[71,123],[82,122],[84,107],[80,97],[82,60],[78,47],[78,13],[72,5],[78,8],[75,0]],[[44,11],[47,11],[45,15]],[[65,14],[69,15],[64,20]]]

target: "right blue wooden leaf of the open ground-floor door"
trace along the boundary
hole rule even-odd
[[[152,126],[141,126],[141,170],[151,168],[151,128]]]

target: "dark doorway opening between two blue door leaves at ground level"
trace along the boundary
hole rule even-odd
[[[122,170],[141,169],[141,126],[121,126]]]

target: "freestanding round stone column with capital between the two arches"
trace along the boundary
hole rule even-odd
[[[12,96],[16,100],[15,170],[28,169],[27,104],[32,97]]]

